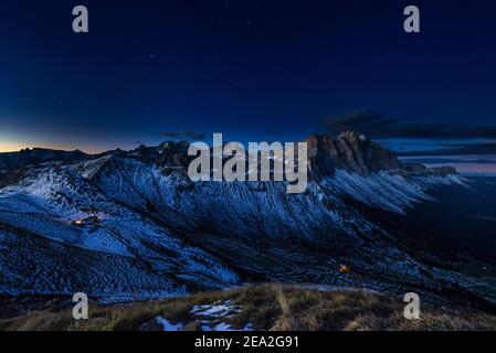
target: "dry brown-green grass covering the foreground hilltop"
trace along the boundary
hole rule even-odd
[[[75,321],[72,310],[52,308],[0,321],[0,330],[113,331],[160,330],[155,318],[181,323],[181,330],[201,330],[201,320],[193,317],[194,306],[230,300],[235,313],[223,321],[231,328],[295,331],[357,330],[496,330],[496,315],[467,309],[421,307],[421,320],[403,318],[401,298],[366,291],[318,291],[285,285],[246,286],[226,291],[201,292],[190,297],[161,301],[89,306],[89,320]],[[200,322],[198,322],[200,321]]]

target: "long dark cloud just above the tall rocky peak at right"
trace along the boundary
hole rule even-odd
[[[329,117],[323,125],[334,135],[353,130],[374,139],[496,139],[496,126],[400,120],[369,111]]]

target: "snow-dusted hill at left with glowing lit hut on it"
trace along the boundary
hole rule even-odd
[[[73,168],[43,164],[1,190],[0,292],[86,291],[110,300],[239,282],[222,261],[120,205]],[[88,216],[97,222],[74,224]]]

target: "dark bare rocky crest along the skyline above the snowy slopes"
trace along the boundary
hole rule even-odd
[[[419,163],[402,163],[392,152],[353,131],[346,131],[336,138],[313,135],[308,143],[308,168],[310,178],[319,180],[335,175],[336,170],[361,176],[380,171],[416,175],[456,174],[453,168],[426,169]],[[136,158],[162,167],[188,168],[188,141],[166,141],[156,147],[140,146],[131,151],[114,150],[99,154],[86,154],[78,150],[59,151],[49,149],[25,149],[20,152],[0,153],[0,172],[40,164],[49,161],[76,162],[98,159],[105,156]]]

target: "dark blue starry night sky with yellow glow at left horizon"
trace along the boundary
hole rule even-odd
[[[495,1],[2,0],[0,43],[0,151],[350,128],[408,156],[496,154]]]

